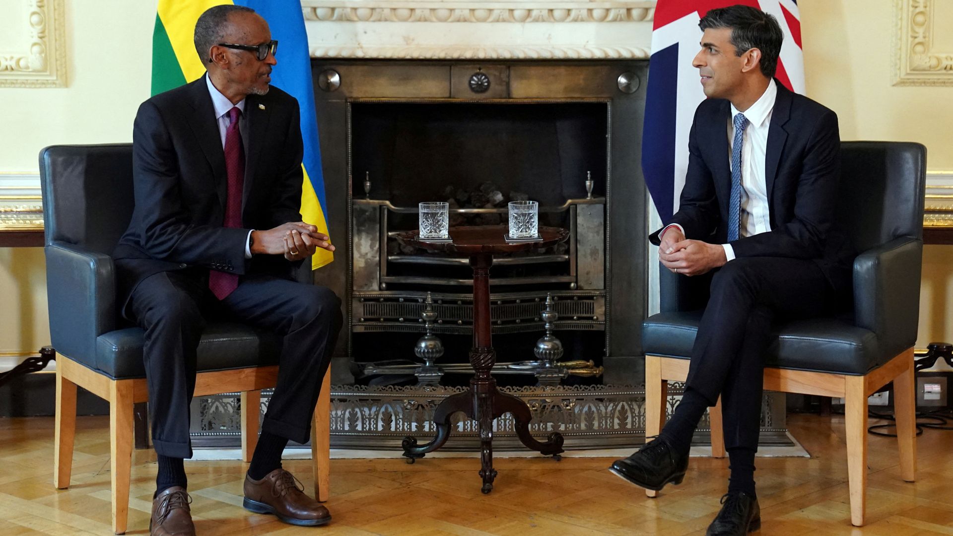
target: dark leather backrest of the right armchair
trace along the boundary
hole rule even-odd
[[[923,239],[926,148],[842,141],[838,225],[861,253],[894,238]]]

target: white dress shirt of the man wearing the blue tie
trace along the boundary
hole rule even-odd
[[[731,148],[735,141],[735,126],[732,121],[738,113],[744,113],[744,116],[748,119],[748,125],[744,129],[744,138],[741,142],[741,210],[738,229],[740,237],[751,237],[771,230],[764,158],[767,154],[771,113],[778,97],[778,86],[776,84],[777,82],[774,80],[768,82],[768,87],[764,90],[764,93],[761,93],[760,98],[744,112],[739,112],[732,104],[731,116],[728,117],[727,157],[729,170],[731,169]],[[669,227],[678,227],[681,234],[685,234],[685,230],[678,223],[673,223]],[[662,234],[665,230],[662,231]],[[724,248],[725,258],[728,260],[735,258],[735,250],[731,247],[731,244],[721,244],[721,247]]]

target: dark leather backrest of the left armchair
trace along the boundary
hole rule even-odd
[[[40,185],[46,244],[110,255],[132,219],[132,144],[47,147]]]

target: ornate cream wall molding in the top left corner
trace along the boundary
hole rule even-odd
[[[63,0],[5,2],[0,10],[27,34],[16,50],[0,50],[0,88],[66,87]]]

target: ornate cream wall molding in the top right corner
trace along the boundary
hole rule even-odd
[[[937,21],[937,0],[894,0],[895,86],[953,86],[953,51],[933,47],[933,33],[953,25]]]

